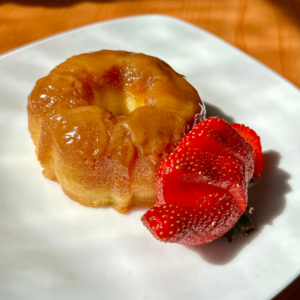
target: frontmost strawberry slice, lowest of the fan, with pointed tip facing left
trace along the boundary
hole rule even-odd
[[[224,193],[190,205],[158,205],[142,216],[142,222],[160,241],[201,245],[218,239],[234,226],[238,220],[235,204]]]

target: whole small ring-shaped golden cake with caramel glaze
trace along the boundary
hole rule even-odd
[[[102,50],[69,58],[37,81],[29,131],[46,178],[86,206],[153,206],[159,164],[205,115],[162,60]]]

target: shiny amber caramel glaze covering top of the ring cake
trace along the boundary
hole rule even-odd
[[[204,106],[162,60],[102,50],[71,57],[38,80],[28,112],[48,122],[66,157],[93,163],[116,153],[127,165],[135,152],[160,162],[203,118]]]

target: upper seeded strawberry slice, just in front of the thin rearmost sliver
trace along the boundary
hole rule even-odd
[[[245,165],[246,181],[254,171],[255,153],[251,145],[225,120],[217,117],[208,118],[187,134],[177,148],[197,148],[214,155],[235,157]]]

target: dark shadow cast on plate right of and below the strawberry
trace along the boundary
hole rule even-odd
[[[211,264],[223,265],[230,262],[263,231],[264,226],[272,226],[273,220],[285,208],[285,195],[291,191],[288,184],[291,176],[278,168],[281,158],[278,152],[271,150],[263,154],[264,167],[261,179],[249,189],[248,193],[248,204],[254,207],[251,219],[258,230],[247,238],[237,233],[232,243],[228,243],[225,238],[221,238],[202,246],[187,246]]]

